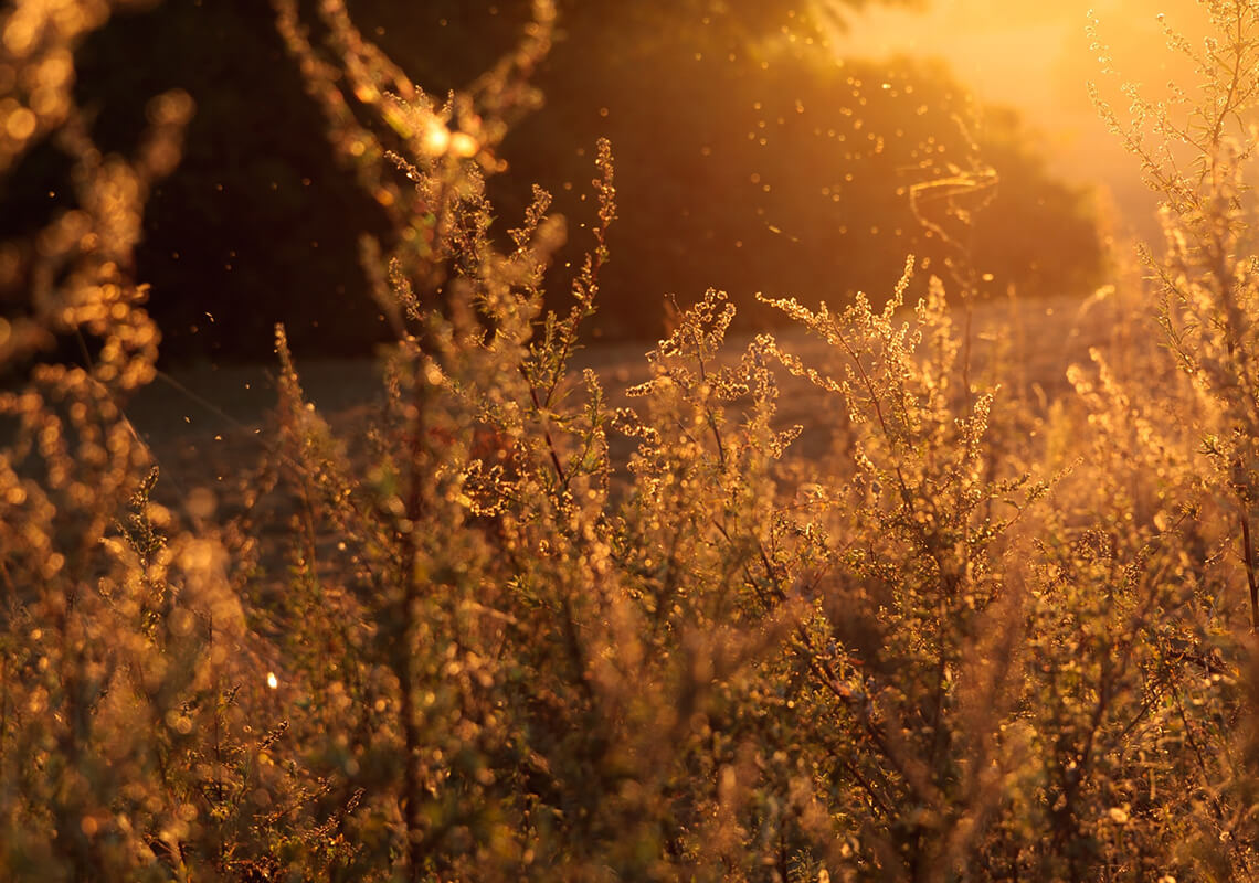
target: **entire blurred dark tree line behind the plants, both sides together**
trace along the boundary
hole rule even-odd
[[[302,10],[319,44],[316,5],[303,0]],[[565,259],[583,252],[588,153],[609,137],[621,221],[597,332],[653,337],[666,294],[685,303],[709,286],[729,289],[745,323],[771,318],[749,307],[755,291],[878,296],[905,252],[948,254],[913,219],[909,189],[986,162],[1001,185],[973,257],[990,287],[1089,286],[1099,259],[1085,196],[1051,180],[1015,116],[972,125],[981,161],[954,122],[981,114],[946,72],[835,59],[827,35],[861,5],[560,0],[558,40],[535,77],[545,107],[512,131],[510,172],[491,181],[500,226],[515,223],[536,181],[569,218]],[[349,6],[368,38],[442,96],[515,43],[529,3]],[[388,238],[389,224],[334,161],[269,4],[170,0],[116,16],[81,54],[81,101],[97,108],[108,148],[126,150],[140,130],[133,96],[181,87],[196,101],[185,160],[154,194],[137,252],[167,358],[267,357],[281,318],[297,352],[364,352],[378,340],[384,323],[358,236]],[[44,172],[26,176],[39,186],[18,195],[19,215],[55,176],[45,152],[33,160]],[[563,279],[551,292],[564,306]]]

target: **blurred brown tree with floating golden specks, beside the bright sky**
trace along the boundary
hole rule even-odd
[[[1000,181],[964,255],[980,294],[1092,289],[1100,249],[1088,195],[1050,176],[1016,113],[980,107],[942,65],[838,60],[825,30],[782,14],[787,24],[759,36],[680,18],[700,23],[687,39],[646,26],[655,36],[630,36],[651,15],[637,6],[603,30],[574,18],[540,73],[548,107],[506,145],[514,174],[500,204],[538,181],[583,219],[584,146],[612,140],[621,221],[606,328],[653,335],[666,292],[689,302],[709,286],[730,292],[744,327],[773,321],[753,307],[757,291],[878,298],[908,252],[947,278],[943,263],[963,255],[922,228],[910,192],[959,174]]]

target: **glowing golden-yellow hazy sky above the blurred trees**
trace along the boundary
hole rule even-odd
[[[1152,201],[1134,161],[1115,143],[1094,112],[1087,84],[1097,81],[1117,96],[1121,81],[1105,77],[1085,33],[1089,10],[1109,44],[1122,81],[1157,89],[1168,79],[1186,84],[1186,63],[1166,49],[1156,20],[1188,35],[1202,33],[1194,0],[928,0],[920,11],[872,8],[837,38],[842,55],[896,54],[946,59],[987,101],[1011,104],[1045,136],[1059,174],[1107,186],[1144,231]],[[1115,102],[1123,107],[1122,99]]]

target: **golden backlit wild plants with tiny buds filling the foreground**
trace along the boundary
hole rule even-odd
[[[740,345],[710,291],[614,406],[574,369],[616,247],[611,146],[559,313],[549,195],[500,234],[485,189],[551,4],[437,101],[340,0],[317,28],[276,0],[398,226],[389,255],[363,249],[395,341],[368,425],[339,434],[277,328],[271,444],[222,518],[205,488],[156,502],[125,416],[157,346],[130,250],[190,101],[155,98],[122,158],[57,93],[35,126],[74,158],[77,205],[0,247],[28,294],[0,319],[20,375],[0,394],[0,877],[1251,877],[1259,9],[1206,6],[1216,42],[1172,40],[1201,93],[1110,116],[1167,248],[1148,286],[1098,293],[1124,325],[1068,395],[1005,382],[1019,353],[981,364],[947,303],[983,278],[976,160],[914,192],[957,244],[917,304],[909,259],[881,308],[765,299],[820,346]],[[11,82],[71,64],[107,11],[5,13]],[[14,157],[26,88],[0,99]],[[65,337],[83,365],[23,367]],[[793,455],[788,394],[840,415],[825,454]]]

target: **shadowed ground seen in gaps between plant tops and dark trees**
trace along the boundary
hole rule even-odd
[[[1007,302],[978,304],[972,321],[973,376],[986,385],[985,365],[996,348],[1005,348],[1001,400],[1022,397],[1032,411],[1044,409],[1070,391],[1065,372],[1071,364],[1087,364],[1089,348],[1115,352],[1123,346],[1148,346],[1151,340],[1118,340],[1114,330],[1132,335],[1131,318],[1117,321],[1119,307],[1110,301],[1080,303],[1068,298],[1036,301],[1012,308]],[[961,327],[962,314],[954,319]],[[835,355],[803,331],[777,335],[784,348],[806,364],[823,369]],[[731,336],[725,357],[739,357],[747,337]],[[624,390],[648,377],[646,343],[597,345],[582,350],[574,369],[592,367],[599,375],[613,408],[632,405]],[[379,371],[371,360],[298,360],[297,370],[308,399],[342,438],[361,438],[361,429],[381,401]],[[149,444],[162,470],[164,502],[178,504],[195,487],[234,487],[273,435],[278,362],[232,367],[196,367],[161,375],[128,403],[126,411]],[[796,458],[817,458],[831,447],[842,425],[840,403],[779,370],[778,421],[799,424],[801,438],[792,445]],[[633,441],[609,433],[613,460],[623,464]],[[229,492],[230,494],[230,492]]]

